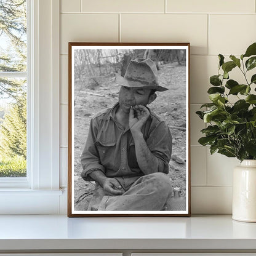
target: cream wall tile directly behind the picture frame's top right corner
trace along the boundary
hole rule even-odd
[[[207,15],[124,14],[121,41],[191,42],[192,54],[206,54]]]

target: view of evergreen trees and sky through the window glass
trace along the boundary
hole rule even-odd
[[[0,0],[0,178],[26,177],[26,1]]]

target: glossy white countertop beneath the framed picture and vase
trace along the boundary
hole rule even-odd
[[[0,250],[256,249],[256,223],[231,215],[0,215]]]

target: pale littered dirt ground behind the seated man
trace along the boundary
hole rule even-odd
[[[107,79],[106,79],[107,80]],[[157,92],[158,98],[149,105],[152,111],[161,116],[169,126],[186,125],[186,67],[178,63],[159,65],[158,82],[169,90]],[[94,182],[84,182],[80,177],[82,167],[80,156],[86,143],[90,119],[95,113],[118,102],[119,86],[113,79],[103,81],[97,87],[88,88],[84,82],[75,81],[74,86],[74,209],[87,210]],[[94,95],[96,94],[96,95]],[[100,95],[103,95],[101,97]],[[169,163],[169,176],[172,186],[186,195],[186,132],[170,128],[173,137],[172,158],[178,156],[179,164],[174,159]]]

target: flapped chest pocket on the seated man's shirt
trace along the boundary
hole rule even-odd
[[[114,167],[114,151],[116,148],[116,142],[104,142],[102,140],[97,140],[95,146],[98,150],[98,155],[100,157],[101,164],[106,169],[113,169]]]

